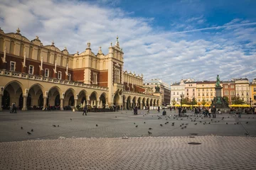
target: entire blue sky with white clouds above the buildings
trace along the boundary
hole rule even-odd
[[[107,54],[116,42],[124,70],[167,84],[256,78],[255,0],[0,0],[0,27],[60,50]]]

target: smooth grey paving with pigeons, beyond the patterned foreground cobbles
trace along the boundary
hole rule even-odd
[[[242,115],[242,118],[238,119],[236,115],[222,114],[211,120],[212,118],[193,117],[193,113],[188,113],[188,118],[177,120],[174,118],[176,111],[167,111],[169,118],[163,116],[161,119],[157,116],[161,114],[156,111],[151,111],[149,115],[146,111],[139,113],[133,115],[132,111],[119,111],[88,113],[87,116],[82,116],[80,112],[71,111],[26,111],[17,114],[0,112],[0,142],[55,140],[61,137],[172,137],[189,136],[191,133],[200,136],[245,136],[245,133],[252,137],[256,136],[256,115]],[[225,118],[222,120],[223,117]],[[191,119],[195,122],[191,122]],[[167,121],[169,123],[165,124]],[[171,123],[174,123],[174,126]],[[181,124],[183,127],[186,125],[186,128],[181,129]],[[54,128],[53,125],[59,127]],[[28,135],[28,131],[32,135]],[[149,135],[148,131],[152,134]]]

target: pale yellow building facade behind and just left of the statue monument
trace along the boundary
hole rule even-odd
[[[197,93],[196,100],[198,102],[198,105],[202,105],[203,101],[206,102],[206,105],[210,105],[211,101],[216,96],[215,84],[216,84],[216,81],[197,81],[196,82],[196,93]],[[222,85],[223,85],[222,81],[220,81],[220,86]]]

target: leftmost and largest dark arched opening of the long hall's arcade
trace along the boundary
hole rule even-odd
[[[9,109],[12,103],[16,104],[17,109],[21,109],[23,106],[23,90],[21,83],[18,81],[11,81],[4,88],[4,96],[2,98],[2,106],[5,109]],[[21,100],[20,100],[21,97]]]

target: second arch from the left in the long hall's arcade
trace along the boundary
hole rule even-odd
[[[33,106],[43,106],[43,96],[45,94],[43,86],[41,84],[33,84],[28,89],[27,106],[33,108]]]

